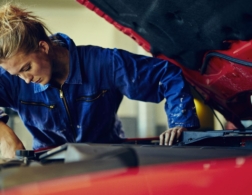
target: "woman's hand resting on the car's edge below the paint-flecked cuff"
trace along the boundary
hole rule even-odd
[[[181,133],[186,130],[187,129],[185,127],[173,127],[164,131],[159,136],[159,145],[171,146],[174,140],[178,140]]]

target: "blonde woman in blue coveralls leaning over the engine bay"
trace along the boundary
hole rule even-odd
[[[0,10],[0,106],[15,110],[33,135],[34,149],[66,142],[120,142],[117,110],[123,96],[158,103],[166,98],[171,145],[199,120],[181,70],[168,61],[120,49],[76,46],[52,35],[33,13],[6,4]],[[0,149],[13,157],[22,142],[0,112]]]

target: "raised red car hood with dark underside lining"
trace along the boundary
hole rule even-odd
[[[238,128],[252,119],[252,1],[77,1],[181,67],[205,103]]]

